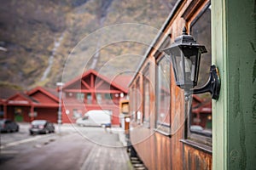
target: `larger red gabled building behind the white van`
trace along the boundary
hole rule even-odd
[[[119,100],[127,95],[130,80],[131,77],[110,80],[90,70],[67,82],[62,88],[62,122],[75,122],[87,111],[107,110],[112,114],[112,124],[119,125]]]

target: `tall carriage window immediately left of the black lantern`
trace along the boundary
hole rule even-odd
[[[156,128],[158,131],[170,134],[170,60],[163,57],[157,66],[156,89]]]

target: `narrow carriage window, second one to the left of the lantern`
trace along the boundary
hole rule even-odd
[[[150,114],[150,91],[148,71],[143,75],[143,123],[149,126]]]

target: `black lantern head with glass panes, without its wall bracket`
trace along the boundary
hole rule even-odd
[[[207,53],[205,46],[197,44],[194,37],[183,29],[183,34],[163,51],[171,56],[177,86],[194,88],[197,85],[201,54]]]

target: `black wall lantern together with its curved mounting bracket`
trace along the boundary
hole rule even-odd
[[[185,90],[186,96],[209,92],[212,94],[212,99],[218,99],[220,79],[215,65],[210,67],[207,83],[202,88],[193,89],[197,85],[201,54],[207,53],[207,49],[204,45],[197,44],[194,37],[187,34],[186,27],[183,28],[183,34],[163,51],[171,56],[176,84]]]

